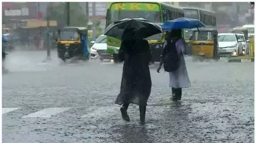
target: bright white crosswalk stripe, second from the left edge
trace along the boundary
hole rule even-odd
[[[46,108],[28,115],[23,116],[22,118],[50,118],[53,115],[59,114],[70,108]]]

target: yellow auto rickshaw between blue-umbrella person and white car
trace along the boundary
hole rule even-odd
[[[189,38],[192,44],[193,61],[205,59],[219,60],[218,31],[216,29],[193,30]]]

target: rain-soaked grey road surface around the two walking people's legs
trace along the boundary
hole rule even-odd
[[[169,100],[168,74],[151,66],[146,125],[138,106],[121,120],[122,64],[42,63],[46,52],[9,53],[3,75],[3,143],[253,143],[254,63],[192,62],[192,87]]]

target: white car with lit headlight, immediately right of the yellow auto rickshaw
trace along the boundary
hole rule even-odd
[[[218,34],[218,50],[220,55],[239,56],[243,54],[242,40],[235,33]]]

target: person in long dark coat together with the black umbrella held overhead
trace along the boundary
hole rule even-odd
[[[130,121],[127,109],[133,103],[139,106],[140,123],[145,124],[147,99],[151,93],[151,50],[144,38],[158,33],[162,33],[161,26],[144,18],[125,18],[106,28],[104,35],[122,40],[118,57],[124,65],[115,103],[122,105],[120,110],[125,121]]]

